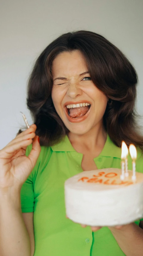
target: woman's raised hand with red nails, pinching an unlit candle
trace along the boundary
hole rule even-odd
[[[36,165],[41,147],[35,134],[36,125],[20,133],[0,150],[0,191],[21,189]],[[33,139],[33,140],[32,140]],[[25,156],[28,145],[33,144],[29,156]]]

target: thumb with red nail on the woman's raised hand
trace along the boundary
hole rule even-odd
[[[30,159],[30,161],[32,163],[33,168],[36,165],[37,159],[38,159],[40,151],[41,151],[41,147],[40,147],[38,138],[39,138],[38,136],[35,136],[35,138],[33,139],[32,150],[28,156],[28,158]]]

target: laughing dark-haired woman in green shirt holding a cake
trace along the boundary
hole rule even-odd
[[[83,228],[64,205],[67,178],[120,168],[122,140],[136,145],[142,172],[136,84],[123,53],[94,32],[66,33],[41,53],[28,84],[34,124],[0,151],[2,256],[142,255],[142,220]]]

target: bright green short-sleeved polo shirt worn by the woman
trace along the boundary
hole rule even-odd
[[[27,147],[30,153],[32,144]],[[136,169],[143,172],[143,157],[138,151]],[[21,188],[22,212],[34,212],[34,256],[123,256],[108,227],[92,232],[65,217],[64,182],[83,172],[83,155],[75,151],[67,136],[52,147],[41,146],[36,166]],[[98,169],[120,168],[121,148],[107,136],[101,154],[94,158]],[[129,169],[132,161],[128,157]],[[136,221],[139,225],[139,221]]]

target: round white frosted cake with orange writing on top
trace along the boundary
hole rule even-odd
[[[90,226],[128,224],[143,218],[143,174],[132,171],[123,181],[115,168],[81,172],[65,181],[69,219]]]

